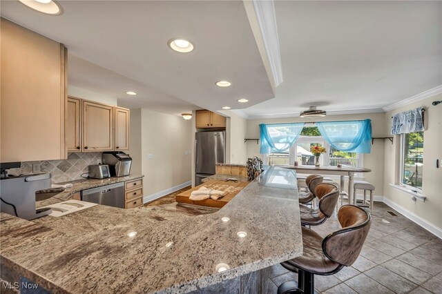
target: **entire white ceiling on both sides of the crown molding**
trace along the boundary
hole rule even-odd
[[[242,1],[58,2],[57,17],[17,0],[1,1],[1,15],[69,48],[71,86],[130,108],[376,112],[442,84],[441,1],[275,1],[283,82],[273,99]],[[173,52],[172,37],[195,51]],[[220,79],[233,86],[215,86]]]

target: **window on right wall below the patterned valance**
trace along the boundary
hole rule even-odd
[[[423,132],[403,134],[401,183],[422,188]]]

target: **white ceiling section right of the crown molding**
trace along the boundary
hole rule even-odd
[[[276,1],[284,81],[249,117],[382,108],[442,84],[442,2]],[[346,111],[345,111],[346,110]]]

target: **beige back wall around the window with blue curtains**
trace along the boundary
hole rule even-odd
[[[372,135],[373,137],[385,137],[388,133],[385,130],[385,113],[367,113],[360,115],[333,115],[328,117],[320,117],[314,121],[343,121],[356,119],[372,119]],[[247,138],[260,137],[260,124],[278,124],[308,121],[300,117],[289,117],[283,119],[249,119],[247,121]],[[365,181],[371,182],[376,187],[375,195],[383,195],[383,169],[384,169],[384,144],[390,144],[388,140],[375,140],[372,145],[372,152],[364,155],[364,167],[372,169],[371,173],[363,174]],[[256,141],[247,141],[247,157],[260,155],[260,145]],[[347,190],[347,184],[345,185]]]

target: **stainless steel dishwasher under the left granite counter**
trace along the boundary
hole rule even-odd
[[[124,182],[82,190],[81,200],[124,208]]]

